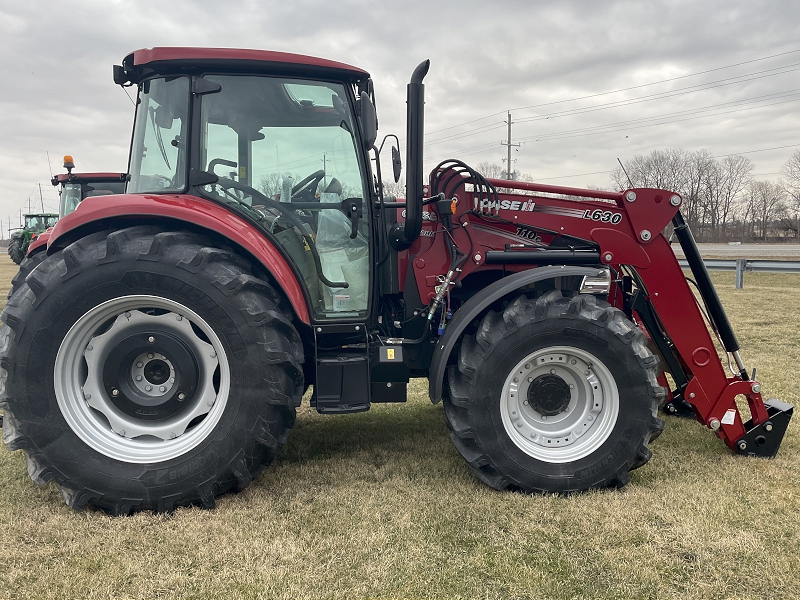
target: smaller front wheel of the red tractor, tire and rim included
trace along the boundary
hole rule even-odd
[[[456,448],[487,485],[622,487],[645,464],[665,390],[642,332],[594,296],[520,296],[465,336],[448,373]]]

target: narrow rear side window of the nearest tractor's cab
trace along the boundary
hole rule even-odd
[[[188,77],[152,79],[139,86],[129,192],[184,189],[188,107]]]

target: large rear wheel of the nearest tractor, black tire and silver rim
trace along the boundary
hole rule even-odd
[[[213,507],[294,424],[303,347],[279,304],[243,259],[195,234],[75,242],[2,314],[5,443],[76,509]]]

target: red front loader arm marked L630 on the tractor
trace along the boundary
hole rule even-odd
[[[765,403],[761,385],[750,380],[739,356],[736,336],[691,232],[679,212],[682,204],[679,195],[657,189],[604,192],[517,181],[485,181],[495,188],[561,194],[574,199],[505,192],[481,196],[479,191],[459,189],[461,181],[446,189],[448,198],[467,198],[467,202],[460,204],[459,213],[464,216],[459,222],[463,225],[466,213],[470,213],[472,237],[464,239],[464,245],[469,241],[474,243],[474,247],[483,249],[482,253],[473,252],[472,260],[464,266],[465,274],[496,268],[498,264],[503,264],[506,272],[525,268],[521,266],[522,262],[540,268],[543,264],[555,264],[546,262],[555,253],[543,244],[539,244],[542,247],[508,244],[512,232],[521,235],[520,227],[550,232],[569,243],[572,243],[570,240],[584,240],[591,244],[596,252],[585,254],[594,256],[595,262],[584,264],[598,264],[599,259],[599,263],[618,274],[627,272],[632,275],[630,279],[636,283],[635,289],[616,286],[616,289],[612,288],[609,302],[625,310],[647,331],[664,358],[666,370],[673,376],[676,385],[673,398],[688,402],[697,420],[736,452],[754,456],[775,455],[793,407],[777,400]],[[473,215],[479,216],[479,222],[472,218]],[[709,324],[669,241],[662,234],[670,222],[675,226],[676,236],[689,259],[699,295],[708,310]],[[454,232],[457,240],[459,236],[465,237],[463,229],[466,227]],[[425,259],[435,254],[427,252],[426,248],[432,247],[416,248],[419,254],[414,265],[419,288],[429,292],[429,297],[436,281],[432,275],[443,268],[441,265],[432,266],[431,261],[426,263]],[[563,248],[564,242],[559,247]],[[620,283],[623,281],[624,278]],[[426,290],[426,286],[431,289]],[[725,353],[733,356],[737,372],[726,374],[723,360],[728,362],[728,356],[722,357],[717,352],[709,325],[720,337]],[[751,414],[747,421],[742,418],[737,396],[744,396],[747,400]]]

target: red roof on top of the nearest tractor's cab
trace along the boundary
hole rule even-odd
[[[353,82],[369,78],[369,73],[357,67],[302,54],[237,48],[159,47],[143,48],[126,56],[122,67],[114,69],[114,82],[138,83],[154,75],[209,71],[326,77]]]

